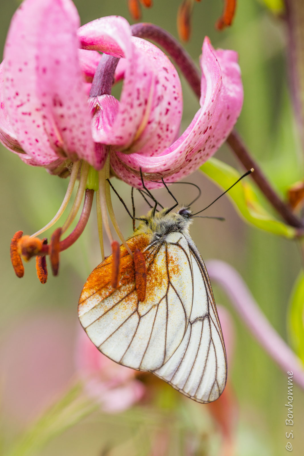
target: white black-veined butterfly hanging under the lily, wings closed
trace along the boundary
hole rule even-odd
[[[144,273],[121,245],[117,287],[111,285],[110,255],[82,289],[79,320],[116,363],[149,371],[196,402],[212,402],[225,388],[227,357],[208,273],[189,234],[196,214],[176,199],[157,212],[145,190],[155,206],[127,240]]]

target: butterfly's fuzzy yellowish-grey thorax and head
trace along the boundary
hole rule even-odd
[[[185,216],[179,212],[186,212],[189,215]],[[152,209],[148,214],[142,218],[142,222],[139,227],[135,230],[136,234],[148,234],[151,236],[150,242],[156,240],[156,238],[162,238],[169,233],[174,231],[180,233],[189,233],[189,226],[192,223],[191,212],[188,207],[177,207],[176,212],[169,212],[166,214],[168,208],[162,209],[160,212],[156,212],[152,216]]]

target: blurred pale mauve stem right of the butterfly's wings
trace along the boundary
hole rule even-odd
[[[271,326],[242,277],[232,266],[220,260],[208,261],[207,269],[210,279],[222,286],[232,306],[261,346],[285,374],[292,371],[294,380],[304,389],[304,367],[301,360]]]

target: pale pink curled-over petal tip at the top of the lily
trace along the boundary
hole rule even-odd
[[[83,49],[93,49],[114,57],[127,57],[130,52],[131,27],[121,16],[106,16],[88,22],[77,32]]]

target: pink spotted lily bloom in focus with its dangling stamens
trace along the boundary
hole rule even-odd
[[[140,24],[136,27],[140,32]],[[161,178],[178,181],[216,152],[237,121],[243,90],[236,52],[214,50],[205,37],[200,109],[179,135],[183,102],[178,73],[164,52],[133,36],[134,30],[119,16],[80,27],[71,0],[25,0],[13,16],[0,65],[0,141],[28,165],[70,176],[51,222],[31,236],[15,233],[10,251],[19,277],[24,274],[22,259],[36,256],[37,274],[45,283],[46,255],[57,275],[60,252],[88,222],[94,192],[103,258],[103,227],[112,249],[118,248],[108,214],[129,251],[107,179],[116,176],[141,188],[142,173],[149,189],[160,187],[155,181]],[[120,80],[118,100],[111,89]],[[60,218],[77,180],[75,201],[62,228],[49,244],[37,238]],[[62,238],[84,195],[76,228]]]

